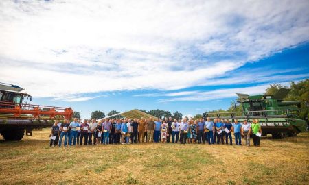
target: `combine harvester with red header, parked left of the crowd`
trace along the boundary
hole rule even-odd
[[[71,108],[38,106],[27,103],[31,95],[23,88],[0,82],[0,132],[5,140],[21,140],[33,129],[52,127],[55,120],[71,119]]]

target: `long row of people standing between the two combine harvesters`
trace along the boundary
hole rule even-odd
[[[85,119],[83,123],[74,118],[60,123],[56,121],[50,134],[50,146],[63,145],[108,145],[108,144],[133,144],[133,143],[198,143],[209,145],[220,143],[242,145],[242,136],[246,146],[250,146],[250,136],[253,136],[253,145],[260,147],[262,129],[258,119],[252,123],[244,120],[233,123],[229,119],[190,119],[172,120],[170,117],[163,120],[151,117],[149,119]]]

